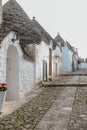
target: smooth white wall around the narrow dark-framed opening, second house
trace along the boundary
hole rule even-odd
[[[43,80],[43,60],[47,62],[47,77],[49,75],[49,48],[51,47],[44,41],[35,45],[36,84]]]

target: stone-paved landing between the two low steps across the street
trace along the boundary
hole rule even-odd
[[[84,73],[83,73],[84,74]],[[74,75],[74,76],[60,76],[55,81],[43,82],[43,86],[86,86],[87,76],[86,75]]]

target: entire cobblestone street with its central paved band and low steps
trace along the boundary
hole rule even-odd
[[[87,130],[86,74],[81,70],[48,82],[35,97],[2,117],[0,130]]]

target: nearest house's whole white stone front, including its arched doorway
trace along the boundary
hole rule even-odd
[[[7,100],[19,99],[35,87],[35,63],[23,58],[19,41],[12,42],[14,37],[10,32],[0,48],[0,82],[7,83]]]

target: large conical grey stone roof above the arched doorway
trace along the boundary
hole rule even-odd
[[[9,0],[3,6],[3,23],[0,32],[0,41],[10,32],[20,35],[20,44],[39,44],[39,33],[33,28],[32,22],[22,7],[15,1]]]

